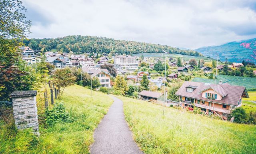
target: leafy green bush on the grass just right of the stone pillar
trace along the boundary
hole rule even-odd
[[[71,111],[70,111],[71,114]],[[62,103],[55,104],[52,110],[46,109],[46,124],[48,126],[54,125],[58,121],[71,122],[71,116],[66,112]]]

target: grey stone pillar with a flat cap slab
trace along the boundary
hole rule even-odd
[[[36,107],[37,91],[14,91],[11,93],[13,115],[18,129],[32,128],[39,136]]]

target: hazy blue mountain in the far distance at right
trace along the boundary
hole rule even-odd
[[[256,63],[256,38],[233,41],[218,46],[201,47],[195,50],[214,59],[217,59],[217,54],[219,54],[221,61],[225,61],[227,58],[230,62],[241,63],[246,60]]]

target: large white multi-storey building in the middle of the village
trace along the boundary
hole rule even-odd
[[[138,69],[139,63],[135,57],[130,55],[118,55],[114,57],[114,66],[125,71],[134,71]]]

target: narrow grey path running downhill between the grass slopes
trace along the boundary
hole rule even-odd
[[[94,132],[91,154],[143,154],[132,139],[123,112],[123,102],[112,96],[114,103]]]

